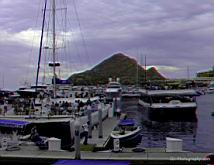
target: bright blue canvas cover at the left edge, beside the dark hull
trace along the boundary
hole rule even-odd
[[[28,122],[28,121],[0,119],[0,127],[23,128],[24,126],[26,126],[28,124],[30,124],[30,122]]]

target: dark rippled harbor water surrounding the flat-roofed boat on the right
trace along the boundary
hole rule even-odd
[[[142,124],[140,146],[149,148],[166,147],[166,137],[183,140],[183,150],[192,152],[214,152],[214,94],[197,97],[197,121],[151,122],[143,120],[137,99],[123,100],[122,109],[129,118]]]

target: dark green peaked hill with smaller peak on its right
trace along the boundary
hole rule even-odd
[[[150,68],[146,73],[147,80],[165,79],[155,68]],[[73,74],[69,79],[72,80],[74,85],[96,85],[107,84],[109,77],[113,79],[119,77],[122,84],[136,84],[137,77],[139,83],[142,83],[144,76],[145,70],[134,59],[118,53],[96,65],[91,70]]]

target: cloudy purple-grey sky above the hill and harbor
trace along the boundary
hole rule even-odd
[[[45,24],[49,31],[50,1]],[[62,63],[57,73],[61,77],[91,68],[117,52],[135,58],[139,64],[144,63],[142,59],[146,56],[147,65],[156,66],[169,78],[186,78],[187,70],[193,77],[197,71],[214,65],[213,0],[56,0],[56,3],[57,55]],[[0,0],[0,88],[34,83],[42,8],[44,0]],[[49,32],[45,38],[50,36]],[[50,42],[45,39],[43,43],[50,48],[43,50],[41,64],[46,78],[51,76],[50,68],[43,64],[51,60]]]

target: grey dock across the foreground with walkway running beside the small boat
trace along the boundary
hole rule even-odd
[[[110,132],[119,120],[116,117],[103,121],[103,138],[98,137],[98,128],[93,129],[89,144],[103,146]],[[145,148],[144,152],[133,152],[124,148],[121,152],[81,151],[81,160],[111,160],[129,161],[130,164],[208,164],[208,153],[166,152],[164,148]],[[23,143],[18,151],[0,151],[0,164],[53,164],[58,160],[75,160],[75,151],[48,151],[39,150],[35,145]]]

